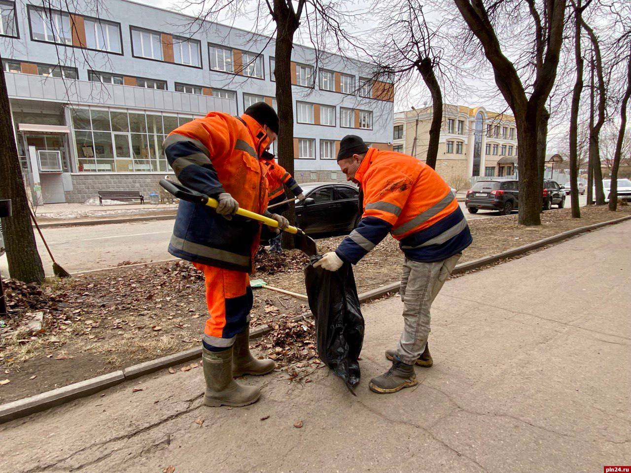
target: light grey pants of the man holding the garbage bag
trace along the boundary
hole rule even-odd
[[[425,350],[432,302],[462,255],[458,253],[433,263],[405,258],[400,290],[404,327],[397,346],[397,356],[403,363],[413,365]]]

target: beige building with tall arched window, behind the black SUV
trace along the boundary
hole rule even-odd
[[[444,105],[436,170],[447,180],[506,177],[517,172],[514,117],[484,107]],[[392,149],[425,161],[432,107],[394,114]]]

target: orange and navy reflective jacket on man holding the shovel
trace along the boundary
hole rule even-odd
[[[267,166],[259,156],[269,144],[249,115],[210,112],[172,131],[163,147],[178,180],[206,196],[229,192],[239,207],[262,214],[268,206]],[[223,218],[208,206],[180,201],[168,252],[209,266],[252,271],[261,225],[240,216]]]

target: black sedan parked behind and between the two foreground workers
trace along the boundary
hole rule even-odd
[[[348,233],[362,218],[357,187],[339,182],[300,184],[306,199],[296,206],[305,233]]]

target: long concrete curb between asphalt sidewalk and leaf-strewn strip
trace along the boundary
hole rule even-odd
[[[575,228],[574,230],[564,231],[563,233],[559,233],[558,235],[543,238],[542,240],[538,240],[536,242],[529,243],[528,245],[523,245],[518,248],[513,248],[511,250],[498,253],[497,255],[491,255],[488,257],[459,264],[454,269],[453,274],[461,274],[466,271],[478,269],[480,267],[487,266],[488,264],[493,264],[498,260],[522,255],[524,253],[528,253],[529,251],[536,250],[537,248],[550,245],[551,243],[557,243],[562,240],[566,240],[567,238],[574,237],[575,235],[580,235],[581,233],[586,233],[587,231],[596,230],[597,228],[601,228],[603,226],[615,225],[616,223],[621,223],[628,219],[631,219],[631,215],[615,220],[596,223],[594,225]],[[399,283],[392,283],[387,284],[386,286],[382,286],[381,288],[372,289],[372,291],[367,291],[358,296],[360,303],[364,303],[391,293],[396,293],[398,291]],[[298,322],[304,317],[305,315],[298,315],[297,317],[293,317],[292,320],[294,322]],[[307,317],[309,317],[309,315],[307,315]],[[273,327],[269,327],[269,325],[261,325],[261,327],[257,327],[256,329],[252,330],[252,332],[250,333],[250,337],[261,337],[265,334],[268,334],[272,330]],[[169,366],[178,365],[179,363],[184,363],[191,359],[199,358],[200,356],[201,347],[191,348],[186,351],[180,351],[179,353],[163,356],[162,358],[145,361],[144,363],[138,363],[137,365],[124,368],[121,371],[114,371],[114,373],[107,373],[105,375],[74,383],[66,387],[43,392],[42,394],[37,394],[25,399],[16,400],[14,402],[9,402],[8,404],[3,404],[2,406],[0,406],[0,424],[28,416],[35,412],[45,411],[50,407],[59,406],[61,404],[69,402],[70,400],[94,394],[95,392],[107,389],[126,380],[131,380],[143,375],[148,375],[155,371],[162,370],[163,368],[168,368]]]

